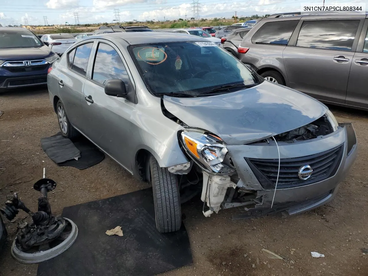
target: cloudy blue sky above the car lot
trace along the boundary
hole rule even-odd
[[[296,0],[198,0],[200,17],[229,17],[231,13],[247,16],[300,11]],[[309,0],[308,4],[322,4],[323,0]],[[0,24],[3,26],[24,24],[75,24],[74,13],[79,23],[112,22],[114,10],[120,12],[120,21],[190,19],[193,16],[192,0],[0,0]],[[368,0],[325,0],[329,3],[365,3]],[[209,16],[210,15],[210,16]],[[215,15],[215,16],[214,16]]]

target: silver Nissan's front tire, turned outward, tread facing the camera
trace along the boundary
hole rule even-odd
[[[151,156],[151,183],[155,204],[156,227],[161,233],[174,232],[181,226],[181,206],[178,178],[162,168]]]

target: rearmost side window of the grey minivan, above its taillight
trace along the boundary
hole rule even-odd
[[[287,45],[298,22],[298,20],[267,22],[255,32],[252,42]]]

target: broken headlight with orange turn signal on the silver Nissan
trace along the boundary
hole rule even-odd
[[[223,164],[227,148],[221,138],[201,130],[188,129],[181,132],[181,140],[192,159],[215,173],[235,171]]]

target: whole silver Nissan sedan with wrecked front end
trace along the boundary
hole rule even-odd
[[[181,204],[196,195],[205,217],[326,204],[357,153],[351,124],[198,36],[89,36],[53,63],[47,84],[64,137],[84,135],[152,183],[161,232],[180,229]]]

